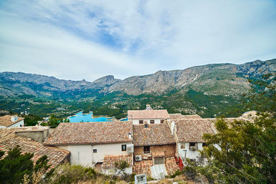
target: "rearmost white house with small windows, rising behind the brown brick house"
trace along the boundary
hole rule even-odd
[[[160,124],[169,119],[167,110],[128,110],[128,120],[132,121],[133,125],[139,124]]]

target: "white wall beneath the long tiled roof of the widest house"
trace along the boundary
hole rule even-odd
[[[121,151],[121,145],[129,144],[132,144],[132,142],[100,145],[63,145],[57,147],[71,152],[70,163],[92,166],[97,161],[103,162],[103,158],[106,155],[127,154],[126,151]],[[97,153],[93,153],[94,149],[97,149]]]

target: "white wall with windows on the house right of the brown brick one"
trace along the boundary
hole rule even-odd
[[[200,156],[198,150],[202,150],[202,143],[197,143],[198,150],[192,151],[189,149],[189,143],[185,143],[185,149],[181,149],[181,143],[178,143],[178,153],[182,159],[198,159]],[[186,157],[185,157],[186,152]]]

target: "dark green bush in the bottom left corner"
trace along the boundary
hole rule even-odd
[[[8,155],[2,159],[4,152],[0,151],[0,181],[1,183],[21,183],[24,175],[30,176],[32,172],[40,169],[48,169],[47,156],[42,156],[36,165],[33,165],[34,154],[21,154],[19,146],[8,151]]]

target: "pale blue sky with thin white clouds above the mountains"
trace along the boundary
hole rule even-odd
[[[0,1],[0,72],[94,81],[276,58],[276,0]]]

